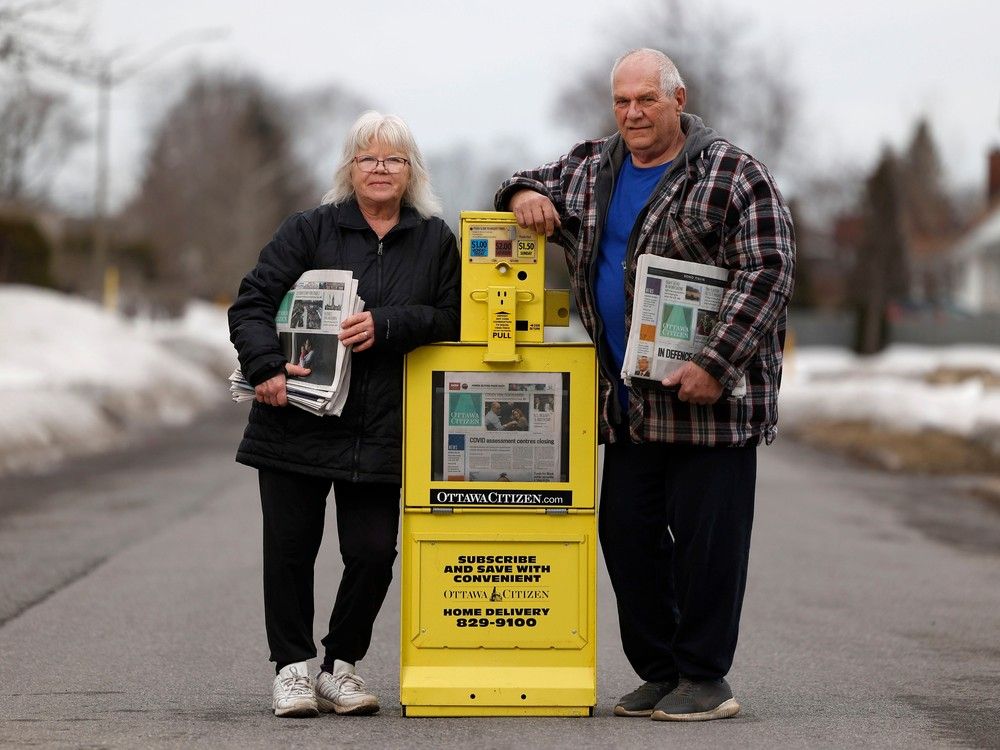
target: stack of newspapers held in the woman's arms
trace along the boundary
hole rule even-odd
[[[289,377],[288,402],[312,414],[340,416],[351,384],[351,350],[338,338],[340,322],[364,309],[358,281],[350,271],[306,271],[278,307],[275,327],[285,357],[308,367]],[[229,376],[233,401],[249,401],[254,389],[239,369]]]

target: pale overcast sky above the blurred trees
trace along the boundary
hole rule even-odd
[[[714,5],[720,24],[735,14],[784,49],[801,95],[800,165],[867,168],[883,144],[903,145],[926,115],[950,181],[984,184],[986,152],[1000,145],[997,0]],[[177,33],[228,29],[218,41],[166,55],[116,91],[112,193],[120,198],[140,174],[146,133],[165,105],[163,92],[172,90],[165,84],[192,59],[257,71],[285,91],[336,81],[401,115],[426,152],[518,140],[539,161],[557,156],[578,135],[557,122],[558,91],[575,67],[606,54],[616,19],[636,17],[647,5],[93,0],[91,7],[95,46],[137,57]],[[91,121],[93,100],[80,100]],[[90,200],[92,153],[81,149],[62,176],[67,202]]]

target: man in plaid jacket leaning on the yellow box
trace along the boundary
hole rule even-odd
[[[756,446],[776,434],[794,239],[767,169],[684,112],[662,52],[611,73],[618,133],[515,174],[496,195],[565,248],[600,362],[600,538],[625,654],[645,682],[619,716],[740,710],[725,680],[746,585]],[[705,347],[662,383],[619,373],[640,253],[714,264],[728,286]],[[746,378],[746,395],[733,389]]]

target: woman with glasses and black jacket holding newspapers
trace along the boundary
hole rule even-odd
[[[436,216],[427,170],[398,117],[367,112],[351,129],[333,187],[318,208],[287,219],[261,251],[229,310],[240,366],[256,391],[236,460],[258,470],[264,514],[264,619],[276,716],[373,714],[355,673],[392,580],[399,529],[403,355],[459,330],[455,237]],[[309,269],[352,271],[364,312],[342,321],[353,347],[340,417],[287,404],[274,318]],[[331,486],[344,574],[315,682],[313,568]]]

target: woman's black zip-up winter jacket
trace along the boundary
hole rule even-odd
[[[257,468],[355,482],[400,483],[403,355],[459,333],[459,257],[439,218],[404,205],[379,241],[358,204],[324,205],[289,217],[243,279],[229,309],[240,367],[257,385],[287,361],[274,317],[303,272],[353,272],[375,322],[374,345],[351,358],[351,385],[340,417],[253,402],[236,460]]]

